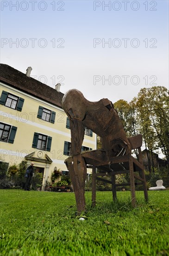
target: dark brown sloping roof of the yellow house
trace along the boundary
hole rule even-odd
[[[6,64],[0,64],[0,81],[62,108],[63,93]]]

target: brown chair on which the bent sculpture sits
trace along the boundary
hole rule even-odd
[[[115,156],[110,159],[109,162],[101,162],[99,166],[92,166],[92,204],[96,203],[96,180],[107,182],[112,184],[113,200],[117,198],[116,188],[121,186],[131,187],[131,204],[136,207],[136,193],[135,186],[143,185],[144,197],[148,201],[148,192],[146,187],[146,180],[144,175],[143,158],[141,153],[142,135],[136,135],[128,138],[131,149],[138,149],[138,160],[132,155]],[[100,172],[96,173],[96,167],[100,169]],[[129,174],[130,182],[123,184],[116,184],[115,176],[118,174]],[[111,176],[111,181],[103,179],[99,176]],[[137,182],[138,180],[138,182]]]

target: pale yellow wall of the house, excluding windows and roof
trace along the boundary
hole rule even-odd
[[[64,160],[68,156],[63,154],[64,141],[71,141],[70,129],[66,128],[67,115],[62,108],[0,83],[0,95],[3,90],[23,98],[24,104],[22,111],[0,105],[0,121],[17,127],[13,143],[0,141],[0,157],[5,162],[9,162],[9,165],[19,164],[25,160],[25,156],[28,164],[33,159],[35,167],[44,168],[43,184],[45,184],[45,180],[50,177],[55,167],[67,170]],[[39,106],[56,112],[55,123],[37,117]],[[52,137],[50,151],[32,147],[34,133]],[[96,149],[96,135],[94,133],[92,137],[85,135],[83,146]]]

